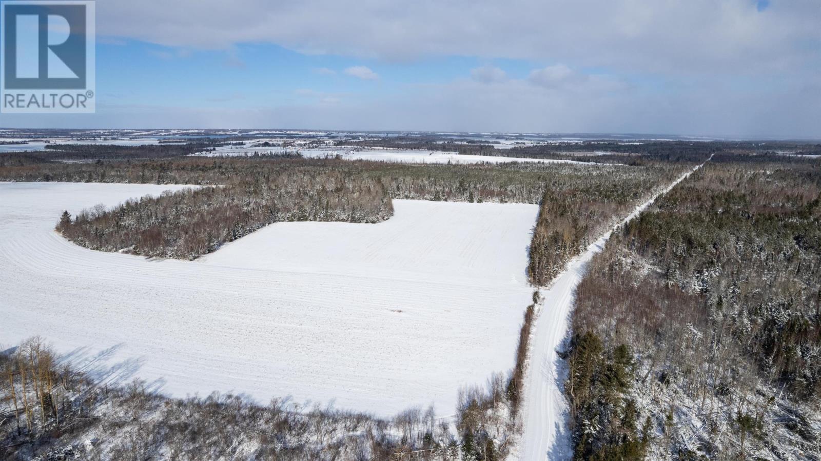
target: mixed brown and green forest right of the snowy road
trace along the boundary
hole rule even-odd
[[[574,458],[819,459],[819,280],[821,162],[717,154],[577,288]]]

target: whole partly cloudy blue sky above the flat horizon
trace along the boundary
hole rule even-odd
[[[821,138],[819,0],[98,0],[97,113],[0,126]]]

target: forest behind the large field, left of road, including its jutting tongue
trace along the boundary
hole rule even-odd
[[[0,180],[206,186],[55,217],[57,230],[89,249],[181,259],[277,221],[383,221],[392,216],[392,199],[540,203],[528,274],[541,285],[617,214],[688,165],[406,165],[268,156],[62,163],[16,155],[0,167]]]

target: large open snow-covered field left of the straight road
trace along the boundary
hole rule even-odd
[[[452,414],[459,386],[512,366],[537,206],[397,200],[380,224],[277,223],[195,262],[94,252],[52,230],[62,210],[164,189],[0,183],[0,343],[41,335],[172,395],[384,416]]]

